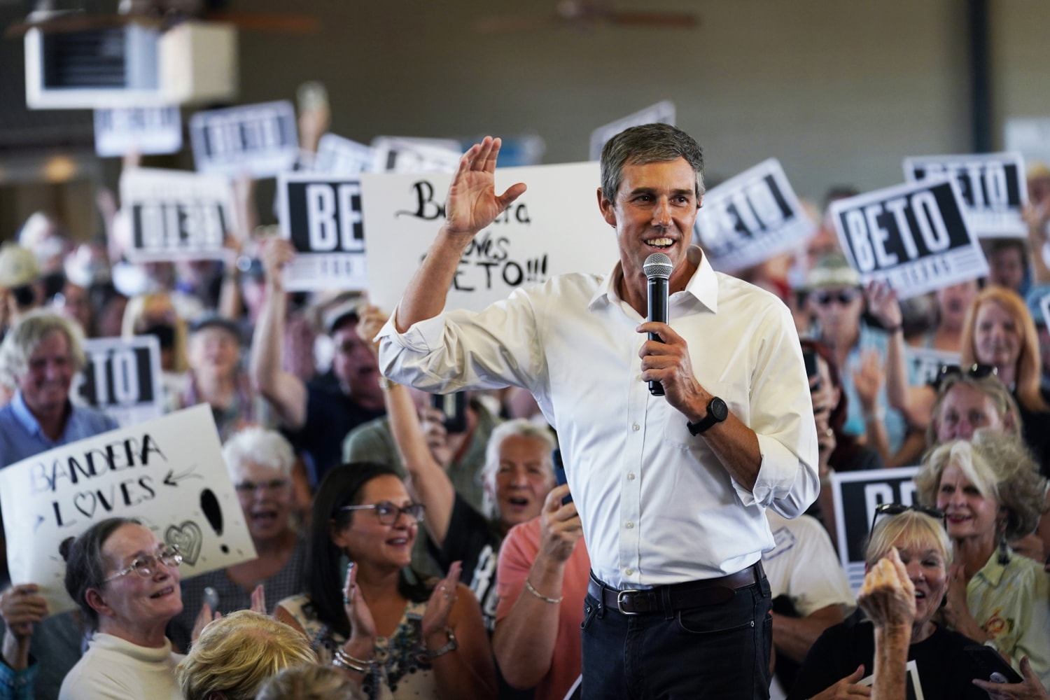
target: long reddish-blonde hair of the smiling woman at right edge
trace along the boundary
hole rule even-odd
[[[999,304],[1013,318],[1017,324],[1017,332],[1021,334],[1021,355],[1017,356],[1014,388],[1017,403],[1029,410],[1050,410],[1050,406],[1047,406],[1042,394],[1040,394],[1043,369],[1035,322],[1032,320],[1032,315],[1028,313],[1025,300],[1012,290],[993,284],[981,290],[973,298],[970,307],[966,311],[966,320],[963,321],[963,337],[960,340],[961,364],[967,366],[979,362],[974,338],[978,313],[985,303]]]

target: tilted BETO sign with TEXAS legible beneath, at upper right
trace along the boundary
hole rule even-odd
[[[898,298],[988,274],[954,179],[920,181],[836,199],[828,211],[861,280],[883,280]]]

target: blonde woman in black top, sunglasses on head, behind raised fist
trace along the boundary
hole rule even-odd
[[[896,504],[894,504],[896,505]],[[915,587],[915,618],[907,659],[915,662],[925,700],[987,700],[972,684],[975,671],[963,649],[973,641],[934,621],[948,591],[951,543],[940,517],[910,507],[877,513],[865,550],[870,572],[897,550]],[[869,697],[876,629],[860,612],[825,631],[802,663],[788,700]]]

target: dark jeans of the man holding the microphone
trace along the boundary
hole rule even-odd
[[[584,599],[585,700],[768,700],[773,618],[762,577],[728,602],[624,615]]]

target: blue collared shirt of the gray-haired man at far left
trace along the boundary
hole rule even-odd
[[[65,430],[58,440],[51,440],[44,434],[40,423],[25,405],[22,393],[18,391],[10,403],[0,408],[0,469],[60,445],[114,430],[118,427],[117,421],[102,411],[74,404]]]

